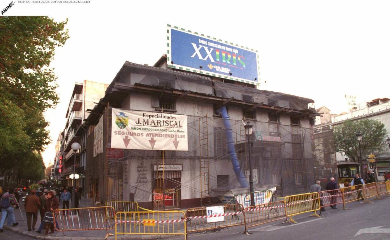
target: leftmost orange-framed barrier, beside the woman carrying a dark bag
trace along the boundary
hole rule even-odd
[[[84,207],[57,209],[53,212],[53,217],[57,214],[57,231],[80,231],[80,230],[106,230],[106,238],[109,229],[114,229],[115,222],[107,217],[107,214],[115,216],[113,207]],[[59,227],[59,228],[58,228]]]

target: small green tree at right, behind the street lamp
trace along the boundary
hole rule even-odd
[[[372,119],[348,120],[333,128],[335,150],[343,152],[349,159],[359,163],[359,142],[356,139],[356,133],[359,131],[363,134],[360,141],[362,160],[367,154],[379,155],[385,151],[387,147],[385,124]]]

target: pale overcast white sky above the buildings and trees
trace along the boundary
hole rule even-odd
[[[60,103],[45,116],[54,141],[74,82],[110,83],[125,61],[153,65],[166,53],[167,24],[258,50],[260,88],[311,98],[316,108],[346,111],[345,94],[390,97],[388,1],[42,2],[16,1],[4,15],[69,19],[70,39],[51,63]],[[43,158],[53,163],[55,143]]]

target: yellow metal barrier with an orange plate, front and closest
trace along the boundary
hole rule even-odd
[[[139,220],[133,216],[139,215]],[[117,235],[183,235],[187,239],[186,219],[182,211],[117,212],[115,214],[115,240]]]

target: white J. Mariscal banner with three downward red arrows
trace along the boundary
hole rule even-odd
[[[112,109],[111,148],[188,151],[187,116]]]

